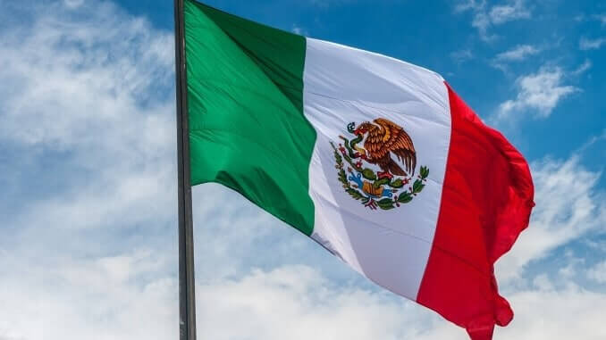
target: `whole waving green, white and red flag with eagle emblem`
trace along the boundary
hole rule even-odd
[[[474,340],[509,323],[493,263],[532,178],[439,74],[193,0],[184,18],[192,185],[230,187]]]

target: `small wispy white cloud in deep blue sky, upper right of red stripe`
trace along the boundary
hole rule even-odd
[[[577,87],[563,85],[563,79],[564,71],[559,67],[543,67],[536,73],[518,78],[518,95],[499,106],[498,119],[528,109],[535,110],[539,117],[548,117],[563,98],[579,91]]]

